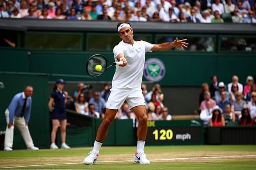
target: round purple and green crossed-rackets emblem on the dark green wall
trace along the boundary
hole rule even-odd
[[[150,58],[144,64],[144,77],[150,82],[158,82],[163,79],[165,74],[165,66],[163,62],[157,58]]]

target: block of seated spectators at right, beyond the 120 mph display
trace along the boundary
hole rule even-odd
[[[211,77],[211,84],[202,84],[199,95],[200,118],[204,126],[226,126],[230,124],[256,124],[256,84],[248,76],[246,84],[239,83],[237,76],[227,86]]]

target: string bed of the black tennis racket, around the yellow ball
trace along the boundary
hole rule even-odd
[[[97,77],[100,76],[106,69],[106,59],[102,56],[93,56],[89,61],[87,65],[87,71],[88,74]],[[97,71],[95,69],[96,65],[101,65],[102,69],[100,71]]]

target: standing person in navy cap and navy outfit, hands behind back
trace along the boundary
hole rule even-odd
[[[49,111],[51,112],[52,119],[52,133],[51,133],[51,146],[50,149],[58,149],[55,144],[56,133],[60,125],[61,131],[61,148],[70,149],[66,144],[66,126],[67,126],[67,116],[66,116],[66,105],[65,99],[66,95],[63,92],[65,82],[63,79],[56,80],[56,83],[51,94],[51,98],[48,104]]]

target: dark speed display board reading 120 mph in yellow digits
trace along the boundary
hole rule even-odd
[[[147,145],[204,143],[201,120],[153,120],[147,127]]]

